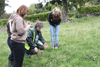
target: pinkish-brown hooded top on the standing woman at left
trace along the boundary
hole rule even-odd
[[[11,22],[11,31],[10,31],[10,22]],[[18,43],[25,43],[26,40],[26,23],[24,19],[18,14],[12,14],[7,22],[7,33],[8,37],[11,37],[11,40]]]

